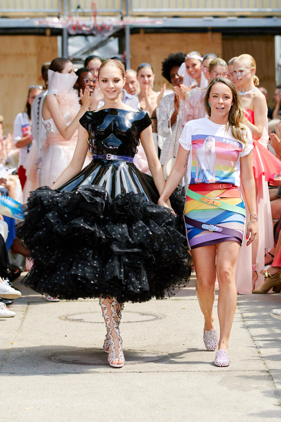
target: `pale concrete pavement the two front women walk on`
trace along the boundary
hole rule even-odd
[[[281,321],[270,317],[281,294],[238,295],[227,368],[204,347],[194,278],[172,299],[127,303],[115,369],[98,300],[51,303],[14,285],[16,317],[0,319],[1,420],[281,420]]]

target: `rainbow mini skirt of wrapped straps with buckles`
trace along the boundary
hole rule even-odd
[[[186,192],[185,227],[190,249],[225,241],[242,244],[245,206],[230,183],[190,184]]]

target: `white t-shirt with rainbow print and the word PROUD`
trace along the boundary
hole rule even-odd
[[[187,183],[230,183],[240,186],[240,157],[253,149],[252,133],[247,129],[246,148],[225,125],[213,123],[208,117],[187,122],[179,138],[181,146],[190,151],[187,162]]]

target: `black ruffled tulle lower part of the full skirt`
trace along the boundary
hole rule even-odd
[[[33,259],[24,285],[65,299],[142,302],[188,282],[184,197],[172,195],[174,216],[144,192],[111,197],[97,184],[64,189],[40,187],[23,206],[16,231]]]

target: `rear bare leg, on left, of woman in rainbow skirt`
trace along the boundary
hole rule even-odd
[[[197,278],[196,296],[204,315],[204,330],[213,330],[213,305],[216,281],[216,245],[202,246],[191,251]]]

